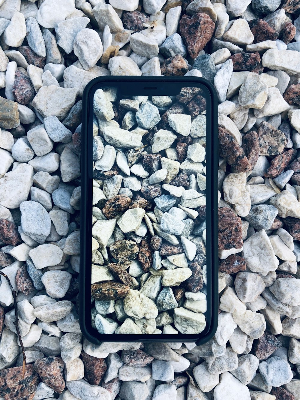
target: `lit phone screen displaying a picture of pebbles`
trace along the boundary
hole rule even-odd
[[[100,334],[206,327],[206,98],[97,89],[92,326]]]

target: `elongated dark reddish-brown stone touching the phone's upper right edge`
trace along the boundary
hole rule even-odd
[[[229,165],[236,168],[239,172],[252,171],[253,166],[246,157],[243,148],[226,129],[219,127],[218,139],[219,154]]]

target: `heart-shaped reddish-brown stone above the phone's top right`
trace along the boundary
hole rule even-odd
[[[185,14],[182,16],[179,21],[180,35],[192,58],[198,57],[200,51],[210,41],[215,27],[214,21],[204,12],[197,12],[192,17]]]

